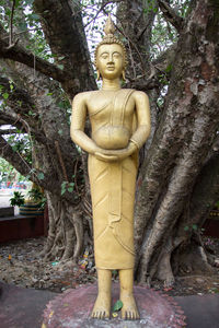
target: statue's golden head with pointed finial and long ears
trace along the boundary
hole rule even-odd
[[[115,65],[116,72],[118,71],[119,78],[123,77],[125,80],[125,69],[127,66],[127,54],[126,48],[122,40],[119,40],[115,35],[115,27],[114,23],[111,19],[111,15],[108,15],[108,19],[106,21],[106,25],[104,28],[105,36],[103,39],[99,43],[99,45],[95,48],[95,67],[97,70],[97,80],[102,74],[106,74],[106,78],[111,79],[115,78],[115,72],[113,74],[113,67],[112,67],[112,73],[111,73],[111,63]],[[107,63],[107,72],[104,70],[104,62]],[[105,71],[105,72],[104,72]],[[116,77],[117,78],[117,77]]]

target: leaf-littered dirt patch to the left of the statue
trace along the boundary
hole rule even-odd
[[[44,261],[39,254],[46,238],[31,238],[0,246],[0,280],[19,286],[62,292],[95,282],[95,270],[88,272],[73,261]]]

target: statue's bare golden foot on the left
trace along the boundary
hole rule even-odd
[[[111,312],[111,295],[101,293],[97,295],[91,317],[95,319],[108,319]]]

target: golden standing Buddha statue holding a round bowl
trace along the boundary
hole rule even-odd
[[[94,256],[99,295],[91,316],[110,318],[112,270],[118,270],[122,318],[137,319],[134,298],[134,202],[138,151],[150,133],[148,96],[122,89],[127,65],[126,49],[114,35],[111,17],[105,37],[95,50],[102,89],[76,95],[72,104],[71,138],[89,153]],[[87,115],[91,138],[84,133]]]

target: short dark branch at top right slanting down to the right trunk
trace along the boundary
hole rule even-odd
[[[168,4],[166,1],[158,0],[158,3],[165,20],[169,21],[177,30],[178,33],[181,33],[184,25],[183,17],[178,16],[176,12]]]

